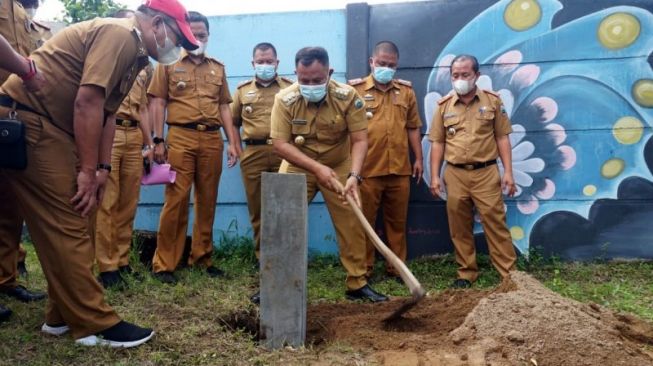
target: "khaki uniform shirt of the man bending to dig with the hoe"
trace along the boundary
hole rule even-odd
[[[365,103],[353,87],[329,81],[327,96],[319,105],[307,102],[299,84],[282,90],[272,107],[271,137],[295,144],[309,158],[333,167],[350,158],[349,133],[367,129]]]

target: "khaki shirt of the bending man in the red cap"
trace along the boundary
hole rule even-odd
[[[74,134],[74,102],[79,87],[93,85],[104,90],[106,114],[115,113],[129,93],[148,55],[136,19],[95,18],[73,24],[41,48],[32,59],[46,80],[52,81],[30,93],[12,75],[2,89],[14,100]]]

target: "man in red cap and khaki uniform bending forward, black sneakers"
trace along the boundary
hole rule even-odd
[[[153,332],[121,321],[105,302],[91,271],[90,217],[111,170],[111,120],[148,63],[194,49],[187,13],[176,0],[148,0],[133,19],[71,25],[31,57],[46,80],[28,92],[17,76],[2,85],[0,115],[14,112],[25,125],[25,170],[1,172],[17,197],[48,281],[42,330],[68,331],[78,344],[133,347]],[[56,81],[56,82],[55,82]]]

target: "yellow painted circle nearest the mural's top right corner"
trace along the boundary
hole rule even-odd
[[[614,13],[605,17],[597,32],[599,42],[610,49],[628,47],[639,37],[639,20],[628,13]]]

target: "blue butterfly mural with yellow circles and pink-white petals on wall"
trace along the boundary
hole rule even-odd
[[[465,24],[428,76],[425,119],[451,92],[451,60],[475,55],[478,85],[501,95],[513,122],[515,246],[566,259],[653,258],[653,14],[604,6],[554,26],[564,6],[503,0]],[[423,146],[428,167],[426,138]]]

